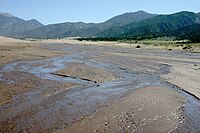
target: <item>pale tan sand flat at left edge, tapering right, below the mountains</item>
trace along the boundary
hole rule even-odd
[[[45,45],[45,43],[43,43]],[[67,54],[41,48],[37,41],[25,41],[0,36],[0,66],[13,61],[44,59]]]

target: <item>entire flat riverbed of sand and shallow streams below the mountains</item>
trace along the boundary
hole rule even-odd
[[[200,131],[199,54],[1,39],[0,132]]]

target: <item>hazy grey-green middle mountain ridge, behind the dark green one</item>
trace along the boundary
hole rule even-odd
[[[135,13],[125,13],[113,17],[103,23],[60,23],[42,26],[38,29],[33,29],[22,34],[19,37],[32,37],[32,38],[62,38],[62,37],[90,37],[99,32],[107,30],[113,26],[123,26],[132,22],[138,22],[147,18],[156,16],[144,11]]]

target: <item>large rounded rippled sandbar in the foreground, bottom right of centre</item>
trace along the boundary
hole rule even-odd
[[[172,132],[184,121],[180,109],[184,102],[176,91],[158,86],[138,88],[117,103],[56,133]]]

